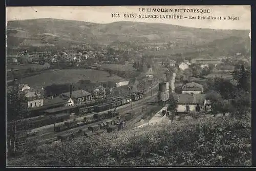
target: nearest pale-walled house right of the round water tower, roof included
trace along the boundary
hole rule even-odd
[[[173,94],[178,113],[201,112],[205,109],[205,94]]]

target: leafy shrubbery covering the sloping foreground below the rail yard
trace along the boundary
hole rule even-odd
[[[250,119],[187,120],[42,145],[8,166],[250,165]]]

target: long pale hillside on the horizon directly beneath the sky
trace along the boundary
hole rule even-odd
[[[248,37],[247,30],[214,30],[181,27],[159,23],[114,22],[95,24],[62,19],[28,19],[9,21],[7,45],[69,47],[70,44],[112,44],[129,42],[143,45],[173,42],[199,46],[230,36]]]

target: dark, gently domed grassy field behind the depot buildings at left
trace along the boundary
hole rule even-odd
[[[101,81],[119,81],[123,78],[113,74],[110,77],[108,72],[91,69],[68,69],[68,70],[48,70],[44,73],[26,77],[22,79],[23,83],[29,86],[50,86],[51,84],[74,83],[79,80],[91,80],[91,82]],[[45,82],[45,84],[44,84]]]

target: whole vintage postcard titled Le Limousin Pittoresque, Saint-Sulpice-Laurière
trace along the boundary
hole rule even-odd
[[[6,11],[7,167],[251,165],[250,6]]]

